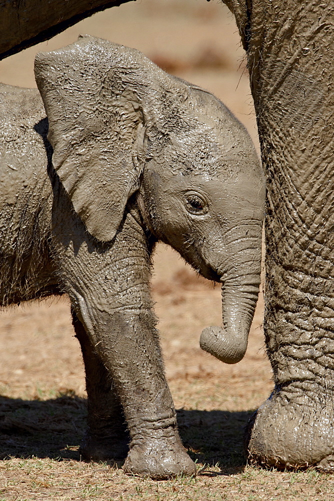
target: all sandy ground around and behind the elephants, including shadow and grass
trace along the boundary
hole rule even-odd
[[[0,63],[0,81],[35,86],[33,56],[89,33],[135,47],[169,72],[219,96],[256,142],[243,51],[232,16],[204,0],[141,0],[95,15],[48,43]],[[334,499],[315,470],[279,472],[246,464],[243,428],[272,388],[260,294],[244,359],[224,365],[199,349],[201,329],[220,324],[220,290],[159,245],[152,292],[169,386],[196,478],[152,481],[121,464],[80,461],[84,374],[66,299],[0,316],[0,501]]]

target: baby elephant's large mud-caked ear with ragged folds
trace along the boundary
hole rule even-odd
[[[141,169],[143,112],[122,81],[121,50],[85,37],[35,59],[53,166],[87,230],[103,241],[114,237]]]

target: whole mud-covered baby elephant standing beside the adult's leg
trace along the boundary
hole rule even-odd
[[[223,325],[200,345],[239,361],[260,281],[254,147],[212,94],[105,40],[38,54],[35,77],[40,94],[0,85],[0,305],[68,294],[86,373],[84,458],[194,474],[164,376],[151,256],[161,240],[221,283]]]

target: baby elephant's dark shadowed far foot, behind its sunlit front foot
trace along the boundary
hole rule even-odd
[[[125,433],[110,436],[88,430],[82,438],[79,453],[86,461],[122,461],[128,453],[128,443]]]

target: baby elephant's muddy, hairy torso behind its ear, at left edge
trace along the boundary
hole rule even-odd
[[[45,111],[35,90],[0,84],[0,305],[57,293],[49,258]],[[42,135],[41,135],[42,134]]]

